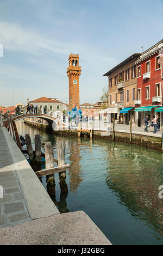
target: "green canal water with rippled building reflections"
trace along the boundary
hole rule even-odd
[[[23,123],[18,132],[29,133],[34,141],[40,133],[42,147],[66,142],[68,196],[60,195],[55,174],[60,212],[83,210],[113,245],[163,245],[163,155],[156,150],[102,140],[58,137]],[[46,188],[46,178],[42,179]]]

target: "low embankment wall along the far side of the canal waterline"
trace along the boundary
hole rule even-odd
[[[26,124],[28,125],[33,125],[37,129],[41,130],[46,130],[47,126],[46,125],[41,125],[39,123],[32,123],[32,121],[26,120]],[[60,136],[74,136],[78,137],[78,131],[77,130],[60,130],[60,131],[53,131],[55,135],[60,135]],[[112,141],[112,131],[110,133],[110,136],[102,136],[101,135],[102,131],[93,131],[93,138],[95,139],[104,139],[104,140],[109,140]],[[88,137],[90,138],[90,133],[89,132],[82,132],[82,137]],[[129,143],[130,142],[130,134],[129,131],[123,131],[123,130],[116,130],[115,131],[115,136],[114,136],[115,141],[119,142],[124,142],[124,143]],[[162,145],[162,136],[161,135],[153,135],[153,134],[148,134],[145,132],[136,132],[133,131],[131,134],[131,144],[137,144],[142,147],[148,147],[148,148],[153,148],[156,150],[161,151],[161,145]]]

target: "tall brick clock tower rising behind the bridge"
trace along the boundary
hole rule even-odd
[[[69,66],[67,68],[67,76],[69,78],[69,110],[75,106],[80,108],[79,103],[79,76],[81,74],[81,66],[79,66],[79,54],[70,54]]]

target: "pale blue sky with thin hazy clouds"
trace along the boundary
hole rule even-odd
[[[79,54],[80,104],[99,101],[103,76],[163,38],[161,0],[0,0],[0,105],[42,96],[68,103],[68,56]]]

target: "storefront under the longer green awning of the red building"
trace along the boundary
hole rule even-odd
[[[135,108],[136,112],[136,126],[144,126],[145,125],[145,117],[148,115],[148,118],[152,120],[153,115],[155,115],[156,108],[158,106],[145,106],[145,107],[137,107]]]

